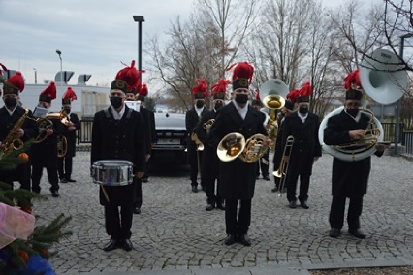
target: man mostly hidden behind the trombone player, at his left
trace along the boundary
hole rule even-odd
[[[278,126],[277,138],[276,138],[277,142],[275,143],[274,156],[272,158],[274,171],[277,170],[278,167],[280,166],[281,158],[283,157],[283,152],[284,152],[284,148],[281,147],[284,120],[286,119],[286,116],[290,115],[291,113],[294,113],[294,103],[292,103],[290,100],[286,100],[286,104],[281,108],[281,112],[280,112],[281,115],[277,117],[277,126]],[[271,189],[271,192],[277,192],[280,189],[279,184],[280,184],[280,178],[274,176],[274,188]],[[285,190],[286,188],[287,186],[285,184],[285,186],[283,186],[283,189]],[[280,192],[284,192],[284,190],[280,190]]]

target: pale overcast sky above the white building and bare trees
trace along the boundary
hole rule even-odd
[[[323,0],[337,6],[343,0]],[[382,0],[368,0],[368,2]],[[0,0],[0,63],[20,71],[28,83],[53,79],[60,71],[55,52],[62,51],[63,70],[91,74],[88,84],[111,82],[120,61],[137,59],[138,23],[143,15],[143,48],[147,35],[162,39],[176,16],[188,17],[195,0]],[[142,68],[150,60],[143,56]],[[136,65],[138,66],[138,65]],[[143,82],[145,82],[143,74]],[[149,88],[150,92],[150,88]]]

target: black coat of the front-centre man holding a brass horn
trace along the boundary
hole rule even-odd
[[[267,135],[262,112],[248,105],[242,120],[233,102],[218,109],[214,124],[209,130],[208,144],[216,150],[221,139],[238,132],[245,139],[254,134]],[[220,161],[220,194],[227,199],[247,200],[254,197],[256,163],[245,163],[239,158],[231,162]]]

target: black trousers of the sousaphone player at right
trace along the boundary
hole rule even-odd
[[[333,196],[330,207],[329,223],[331,228],[341,229],[343,227],[346,197]],[[360,215],[363,209],[363,197],[350,198],[349,210],[347,212],[347,223],[350,230],[360,229]]]

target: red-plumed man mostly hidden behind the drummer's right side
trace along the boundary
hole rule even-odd
[[[141,89],[141,81],[136,82],[135,85],[132,87],[128,87],[126,93],[126,100],[127,101],[136,101],[137,95],[139,95],[139,90]],[[138,106],[136,111],[142,114],[144,127],[145,127],[145,161],[147,162],[149,156],[151,155],[151,132],[150,132],[150,121],[149,121],[149,113],[146,109],[141,107],[140,102],[138,101]],[[145,171],[146,171],[146,163],[145,163]],[[135,214],[141,213],[141,206],[142,206],[142,179],[137,178],[136,180],[136,198],[133,206],[133,212]]]

